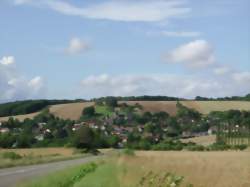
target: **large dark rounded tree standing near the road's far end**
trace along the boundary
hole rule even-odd
[[[93,148],[94,132],[87,126],[81,127],[75,134],[73,144],[77,148]]]

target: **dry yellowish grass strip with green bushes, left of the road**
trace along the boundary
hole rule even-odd
[[[0,149],[0,168],[81,158],[71,148]]]

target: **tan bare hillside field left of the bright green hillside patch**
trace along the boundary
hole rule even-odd
[[[52,105],[49,110],[52,114],[62,119],[78,120],[81,117],[82,110],[93,104],[93,102],[84,102]]]

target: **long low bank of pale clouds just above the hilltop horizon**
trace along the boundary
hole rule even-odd
[[[249,72],[250,73],[250,72]],[[248,80],[248,76],[244,80]],[[199,77],[193,75],[92,75],[81,81],[82,97],[167,95],[194,98],[244,95],[250,92],[249,82],[231,76]]]

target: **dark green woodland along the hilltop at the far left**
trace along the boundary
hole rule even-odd
[[[49,105],[79,102],[83,100],[27,100],[0,104],[0,117],[29,114]]]

